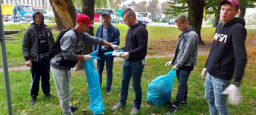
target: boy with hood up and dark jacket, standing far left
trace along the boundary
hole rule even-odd
[[[44,96],[51,96],[49,82],[50,58],[41,59],[40,55],[48,54],[54,43],[51,29],[44,25],[43,13],[41,11],[35,11],[33,20],[34,22],[24,32],[22,41],[22,54],[25,58],[25,64],[30,67],[32,74],[30,89],[30,96],[32,97],[31,105],[36,102],[40,78]]]

